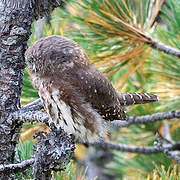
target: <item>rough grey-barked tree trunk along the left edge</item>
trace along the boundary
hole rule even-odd
[[[10,113],[20,108],[24,52],[33,19],[29,5],[0,0],[0,164],[13,162],[21,129]],[[0,177],[12,179],[7,174]]]

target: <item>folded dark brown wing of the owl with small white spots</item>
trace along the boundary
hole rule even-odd
[[[85,101],[90,102],[105,120],[126,119],[118,93],[104,74],[93,65],[87,69],[76,69],[73,77],[73,86],[77,87]]]

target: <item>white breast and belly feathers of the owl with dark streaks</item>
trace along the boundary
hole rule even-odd
[[[86,110],[83,114],[77,107],[63,101],[60,90],[54,88],[52,83],[47,83],[47,80],[34,78],[33,84],[39,89],[38,93],[44,108],[51,117],[50,122],[53,121],[57,128],[63,128],[68,134],[73,134],[77,141],[95,142],[107,132],[107,123],[91,104],[82,104]]]

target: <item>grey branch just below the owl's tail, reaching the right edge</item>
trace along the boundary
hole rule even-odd
[[[154,113],[152,115],[145,116],[130,116],[127,118],[127,121],[115,120],[112,121],[111,124],[115,127],[126,127],[131,124],[149,123],[173,118],[180,118],[180,110]]]

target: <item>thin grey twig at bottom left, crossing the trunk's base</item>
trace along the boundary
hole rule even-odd
[[[20,163],[16,163],[16,164],[1,164],[0,165],[0,173],[4,173],[4,172],[22,172],[25,169],[29,168],[32,164],[34,164],[35,159],[31,158],[25,161],[22,161]]]

